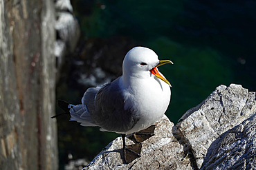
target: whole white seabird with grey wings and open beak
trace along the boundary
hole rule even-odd
[[[126,154],[125,134],[154,125],[170,103],[171,85],[157,69],[166,63],[172,61],[159,61],[153,50],[134,47],[122,63],[122,76],[102,87],[87,89],[80,105],[68,105],[63,100],[58,104],[71,114],[71,120],[82,126],[99,126],[101,131],[122,134]],[[128,151],[138,158],[140,149],[129,148]],[[125,156],[126,162],[135,159],[128,157]]]

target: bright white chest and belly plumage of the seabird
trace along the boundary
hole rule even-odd
[[[127,134],[153,125],[165,114],[170,103],[170,86],[158,78],[131,81],[125,92],[125,107],[132,107],[139,121]]]

